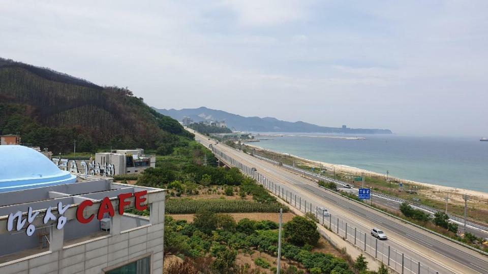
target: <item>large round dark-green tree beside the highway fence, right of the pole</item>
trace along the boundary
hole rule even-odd
[[[319,232],[317,232],[317,224],[301,216],[295,216],[283,227],[283,235],[288,242],[303,246],[309,244],[315,246],[319,240]]]

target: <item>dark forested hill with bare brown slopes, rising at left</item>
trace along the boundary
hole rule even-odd
[[[54,153],[178,146],[192,134],[127,88],[0,58],[0,134]]]

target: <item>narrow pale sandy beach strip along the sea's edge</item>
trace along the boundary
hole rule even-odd
[[[354,167],[354,166],[343,165],[343,164],[333,164],[333,163],[327,163],[327,162],[322,162],[322,161],[316,161],[316,160],[306,159],[306,158],[303,158],[303,157],[300,157],[300,156],[296,156],[296,155],[293,155],[293,154],[289,154],[289,153],[284,153],[284,152],[278,152],[278,151],[274,151],[274,150],[270,150],[270,149],[265,149],[265,148],[262,148],[262,147],[259,147],[259,146],[256,146],[256,145],[246,144],[246,146],[254,147],[256,149],[260,149],[260,150],[267,151],[267,152],[270,152],[270,153],[276,153],[276,154],[280,154],[280,155],[284,155],[284,156],[294,157],[294,158],[297,158],[299,160],[302,160],[303,162],[308,162],[308,163],[314,163],[314,164],[322,165],[322,166],[326,167],[328,170],[330,170],[330,169],[332,169],[332,168],[335,167],[335,169],[338,172],[361,173],[361,174],[364,174],[364,175],[385,177],[384,174],[377,173],[377,172],[373,172],[373,171],[367,170],[367,169],[362,169],[362,168]],[[408,183],[408,184],[418,185],[418,186],[422,186],[422,187],[426,187],[426,188],[430,188],[430,189],[436,189],[439,192],[455,193],[455,194],[460,195],[460,196],[462,194],[468,194],[469,196],[473,196],[473,197],[476,196],[477,199],[488,200],[488,193],[486,193],[486,192],[481,192],[481,191],[476,191],[476,190],[470,190],[470,189],[464,189],[464,188],[448,187],[448,186],[436,185],[436,184],[431,184],[431,183],[422,183],[422,182],[412,181],[412,180],[408,180],[408,179],[396,178],[396,177],[392,177],[392,176],[389,176],[389,178],[392,179],[392,180],[398,181],[398,182],[402,182],[402,183]]]

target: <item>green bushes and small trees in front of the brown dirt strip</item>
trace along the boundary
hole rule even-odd
[[[181,269],[192,269],[186,273],[276,272],[276,263],[270,260],[278,251],[275,222],[242,219],[236,223],[229,215],[206,211],[199,212],[193,223],[166,218],[165,255],[187,257],[170,264],[167,273],[181,273]],[[346,258],[313,251],[318,240],[316,231],[316,223],[305,217],[296,216],[285,223],[283,273],[354,273]],[[237,265],[238,254],[255,255],[254,265]],[[207,263],[201,265],[202,260]]]

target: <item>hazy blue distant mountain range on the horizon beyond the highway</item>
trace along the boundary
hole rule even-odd
[[[391,134],[389,129],[367,129],[348,127],[327,127],[306,122],[287,122],[272,117],[243,117],[237,114],[220,110],[212,110],[205,107],[198,109],[156,109],[163,115],[170,116],[178,121],[187,116],[193,121],[218,120],[225,121],[227,127],[239,131],[257,132],[324,132],[324,133],[352,133],[352,134]]]

